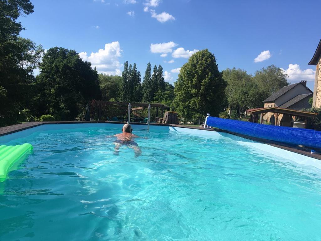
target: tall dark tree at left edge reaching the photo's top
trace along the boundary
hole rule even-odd
[[[29,0],[0,1],[0,126],[22,121],[29,82],[28,72],[19,63],[28,57],[22,55],[26,46],[18,35],[24,28],[17,19],[30,13],[33,5]]]

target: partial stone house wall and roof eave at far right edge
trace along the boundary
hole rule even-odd
[[[321,107],[321,40],[318,47],[309,62],[309,65],[316,66],[316,78],[314,81],[314,95],[312,106],[320,108]]]

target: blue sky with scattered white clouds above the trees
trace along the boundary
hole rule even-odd
[[[34,0],[34,13],[19,20],[21,36],[45,49],[75,49],[99,72],[119,74],[136,63],[161,64],[173,83],[197,50],[209,49],[218,67],[254,74],[275,64],[291,83],[308,80],[321,38],[316,1],[259,0]],[[290,66],[289,66],[290,65]]]

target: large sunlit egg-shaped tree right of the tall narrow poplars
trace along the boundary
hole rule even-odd
[[[193,54],[184,64],[175,82],[174,103],[185,120],[212,116],[226,107],[226,82],[218,70],[215,56],[204,49]]]

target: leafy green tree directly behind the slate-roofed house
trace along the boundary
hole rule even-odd
[[[270,65],[256,71],[254,80],[258,88],[262,90],[262,93],[264,93],[262,99],[265,100],[282,87],[289,85],[286,80],[287,77],[288,75],[285,74],[281,68],[276,67],[275,65]]]

